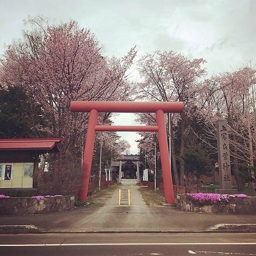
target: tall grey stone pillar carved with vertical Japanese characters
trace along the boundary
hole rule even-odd
[[[216,122],[217,145],[218,145],[218,168],[220,189],[215,189],[220,194],[236,194],[238,191],[232,189],[230,149],[227,131],[227,120],[219,119]]]

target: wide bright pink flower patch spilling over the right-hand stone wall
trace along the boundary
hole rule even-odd
[[[215,194],[215,193],[186,193],[195,204],[210,205],[210,204],[227,204],[230,198],[245,198],[247,195],[227,195],[227,194]]]

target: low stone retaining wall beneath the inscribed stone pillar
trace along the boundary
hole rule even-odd
[[[177,195],[176,202],[183,211],[256,215],[256,197],[231,198],[226,205],[197,206],[186,195]]]

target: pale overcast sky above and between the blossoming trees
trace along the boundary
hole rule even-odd
[[[0,0],[0,54],[21,38],[28,15],[77,20],[96,34],[107,55],[122,56],[137,45],[137,58],[158,49],[204,58],[209,75],[256,59],[256,0]],[[131,76],[139,80],[137,72]],[[134,125],[129,114],[116,119]],[[136,153],[138,135],[120,134]]]

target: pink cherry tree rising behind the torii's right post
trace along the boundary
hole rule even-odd
[[[194,100],[201,88],[199,79],[206,74],[203,59],[184,57],[173,51],[154,52],[146,54],[139,63],[138,69],[143,81],[140,83],[140,98],[150,101],[181,101],[184,102],[185,112],[181,115],[172,115],[170,123],[172,160],[175,176],[175,184],[184,184],[184,144],[185,144],[185,116],[190,114],[194,106]],[[145,118],[144,118],[145,119]],[[180,170],[178,172],[175,154],[175,138],[173,125],[180,119]]]

